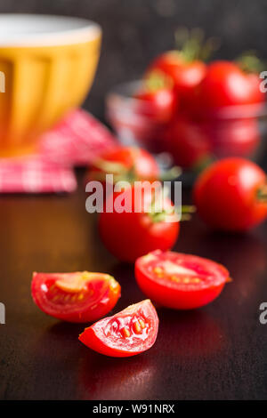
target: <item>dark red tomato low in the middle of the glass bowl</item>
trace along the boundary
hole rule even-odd
[[[174,164],[182,168],[197,168],[211,155],[211,144],[206,133],[187,117],[179,117],[168,125],[163,139],[166,150],[174,158]]]

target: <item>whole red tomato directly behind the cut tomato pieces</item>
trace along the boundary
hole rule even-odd
[[[153,221],[150,214],[134,212],[135,189],[127,189],[125,198],[132,200],[132,212],[103,212],[99,218],[99,231],[102,242],[109,252],[118,260],[134,262],[137,257],[153,251],[157,248],[167,250],[173,247],[178,235],[179,221]],[[110,197],[108,205],[114,207],[114,202],[119,194]],[[173,204],[165,199],[165,204],[171,207]],[[140,204],[142,205],[142,203]]]

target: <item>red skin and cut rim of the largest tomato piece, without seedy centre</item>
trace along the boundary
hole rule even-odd
[[[172,258],[175,260],[178,257],[180,259],[179,265],[181,265],[181,259],[193,266],[206,265],[211,271],[214,269],[218,277],[215,277],[214,274],[214,283],[207,285],[175,283],[166,277],[155,277],[155,274],[148,271],[144,265],[146,257],[155,257],[159,261]],[[157,267],[157,263],[155,265]],[[229,279],[229,272],[222,265],[196,255],[155,251],[135,261],[135,278],[142,292],[152,301],[171,309],[197,309],[214,301],[222,292],[227,279]]]

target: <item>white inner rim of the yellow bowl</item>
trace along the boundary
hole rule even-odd
[[[99,36],[101,27],[93,20],[49,14],[0,13],[0,48],[80,44]]]

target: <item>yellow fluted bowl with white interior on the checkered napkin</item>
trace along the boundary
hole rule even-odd
[[[0,157],[32,152],[40,133],[82,103],[100,47],[91,20],[0,15]]]

